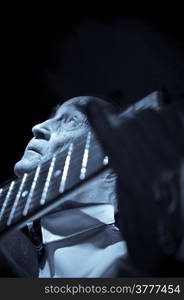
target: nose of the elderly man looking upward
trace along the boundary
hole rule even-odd
[[[49,140],[51,136],[49,120],[33,126],[32,133],[36,139]]]

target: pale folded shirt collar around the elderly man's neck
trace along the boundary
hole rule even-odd
[[[111,204],[89,205],[56,212],[41,219],[43,243],[67,239],[114,222],[114,207]]]

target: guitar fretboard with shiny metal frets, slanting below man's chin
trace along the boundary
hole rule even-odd
[[[30,173],[0,188],[0,234],[24,227],[57,209],[64,196],[108,167],[94,134],[90,131],[77,144],[38,165]]]

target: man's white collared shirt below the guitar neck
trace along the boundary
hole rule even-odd
[[[96,204],[42,218],[46,261],[39,277],[116,277],[126,244],[114,225],[114,207]]]

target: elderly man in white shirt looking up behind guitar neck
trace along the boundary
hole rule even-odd
[[[111,104],[93,98],[104,109]],[[20,177],[40,163],[80,143],[89,132],[84,109],[90,97],[76,97],[58,106],[54,116],[33,127],[33,139],[15,164]],[[39,277],[115,277],[126,245],[115,226],[115,175],[107,170],[98,179],[65,197],[63,205],[41,218],[45,259]]]

